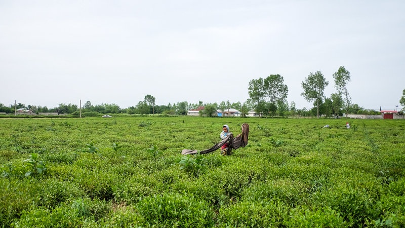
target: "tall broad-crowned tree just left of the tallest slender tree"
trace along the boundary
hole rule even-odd
[[[315,101],[316,102],[316,113],[317,118],[319,119],[319,101],[322,101],[325,95],[323,91],[325,87],[329,85],[329,82],[326,81],[325,77],[323,77],[322,72],[319,70],[315,73],[310,72],[308,77],[301,83],[304,92],[301,93],[308,102]]]

